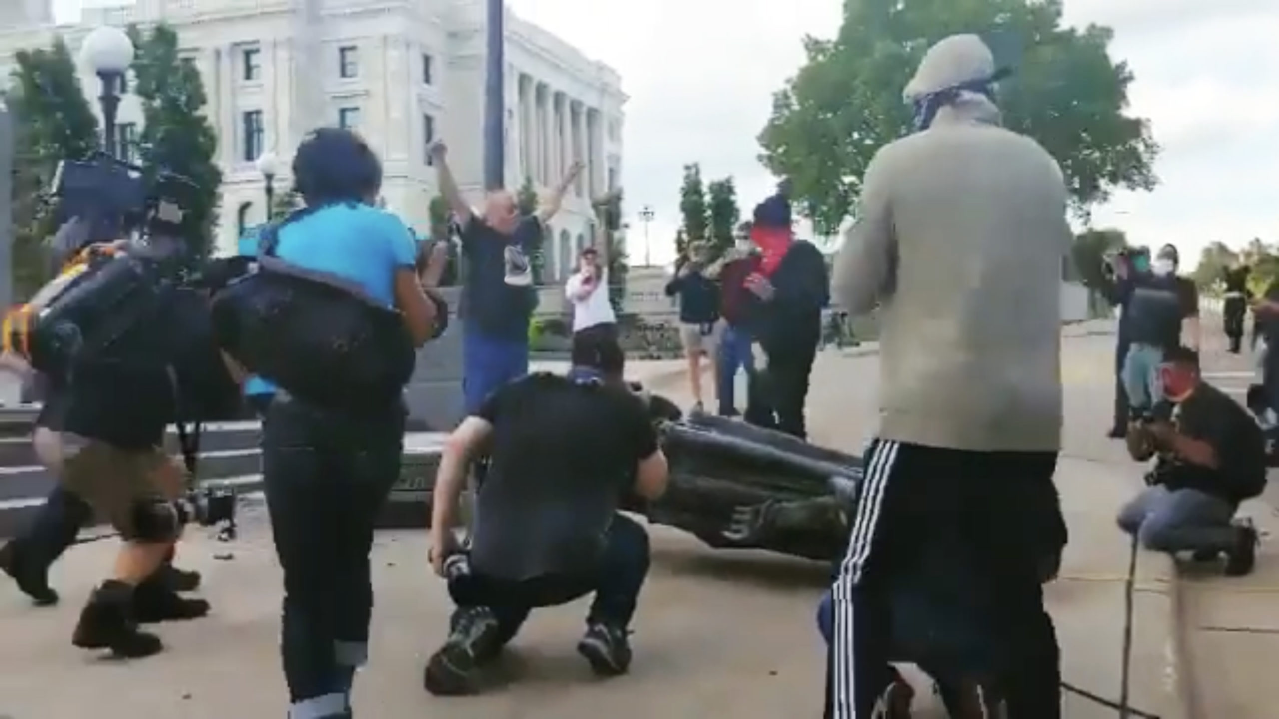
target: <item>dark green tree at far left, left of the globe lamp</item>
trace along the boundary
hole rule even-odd
[[[58,226],[43,193],[59,160],[83,159],[98,148],[98,129],[60,37],[47,50],[19,50],[14,60],[4,97],[13,113],[17,148],[12,273],[14,298],[26,299],[54,273],[45,242]]]

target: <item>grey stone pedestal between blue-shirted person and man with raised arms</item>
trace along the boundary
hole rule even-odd
[[[405,390],[409,429],[417,431],[446,432],[463,417],[460,290],[441,293],[449,302],[449,329],[417,352],[417,370]]]

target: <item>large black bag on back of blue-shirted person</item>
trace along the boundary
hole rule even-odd
[[[416,363],[400,312],[345,278],[279,258],[280,226],[263,228],[256,267],[214,296],[217,344],[304,402],[347,411],[393,406]]]

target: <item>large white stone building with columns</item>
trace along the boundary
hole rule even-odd
[[[427,148],[449,146],[449,161],[477,202],[482,193],[485,0],[136,0],[87,8],[81,22],[56,26],[52,0],[0,0],[0,75],[13,56],[61,36],[78,58],[101,24],[168,23],[205,81],[206,111],[221,143],[225,175],[220,252],[238,232],[266,216],[265,180],[256,160],[280,159],[276,192],[290,184],[298,141],[320,125],[358,129],[381,155],[386,206],[425,232],[436,194]],[[591,232],[590,197],[622,177],[622,79],[608,65],[508,12],[506,186],[531,178],[547,192],[574,160],[579,182],[551,221],[547,274],[564,278]],[[120,146],[137,136],[137,99],[119,110]],[[81,68],[84,92],[98,79]],[[97,102],[91,102],[97,111]]]

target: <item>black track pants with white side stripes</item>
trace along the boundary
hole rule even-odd
[[[1009,719],[1059,719],[1059,649],[1044,558],[1065,544],[1056,454],[875,440],[834,583],[828,719],[870,716],[909,659],[977,681]],[[958,674],[958,676],[957,676]]]

